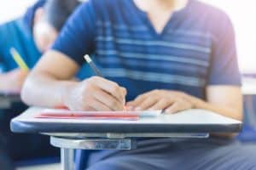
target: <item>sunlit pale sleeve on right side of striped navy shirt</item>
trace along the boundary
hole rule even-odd
[[[229,17],[225,14],[218,22],[214,35],[208,85],[241,86],[235,32]]]

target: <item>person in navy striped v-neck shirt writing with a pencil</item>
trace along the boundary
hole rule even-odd
[[[84,54],[95,55],[105,78],[68,81]],[[166,114],[196,108],[241,120],[230,19],[195,0],[89,0],[34,68],[22,99],[84,111],[119,111],[125,102]],[[88,169],[256,168],[256,147],[231,137],[142,140],[137,150],[92,154]]]

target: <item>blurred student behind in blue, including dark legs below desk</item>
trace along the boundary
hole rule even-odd
[[[77,0],[40,0],[18,20],[0,26],[0,92],[19,93],[28,74],[15,63],[11,48],[15,48],[31,69],[50,48],[68,16],[78,5]],[[5,170],[13,168],[8,156],[17,160],[57,153],[57,150],[49,149],[46,137],[9,132],[10,119],[26,108],[20,104],[14,107],[1,111],[0,117],[0,167]]]

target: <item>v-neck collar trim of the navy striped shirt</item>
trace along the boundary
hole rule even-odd
[[[177,25],[176,24],[177,17],[179,18],[179,20],[183,20],[183,18],[188,14],[187,11],[189,11],[191,1],[193,1],[193,0],[188,0],[188,3],[184,8],[173,12],[172,15],[169,17],[168,21],[166,22],[166,26],[164,26],[164,28],[161,32],[157,32],[155,30],[152,22],[148,18],[148,13],[143,11],[142,9],[138,8],[137,4],[134,2],[134,0],[130,0],[130,1],[131,1],[131,5],[133,6],[133,8],[135,8],[138,16],[146,24],[146,26],[148,27],[151,34],[154,37],[161,38],[166,34],[166,31],[168,31],[172,27],[174,28]]]

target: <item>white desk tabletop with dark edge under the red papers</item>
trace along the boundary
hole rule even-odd
[[[138,121],[39,119],[44,108],[32,107],[11,121],[15,133],[217,133],[239,132],[241,122],[211,111],[189,110]]]

